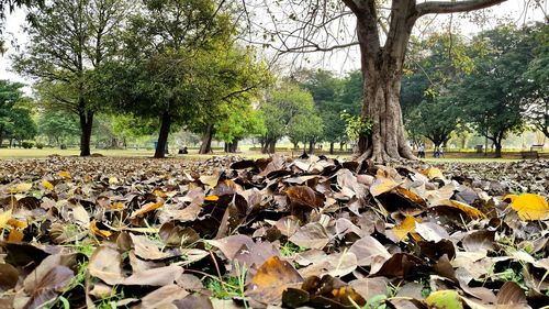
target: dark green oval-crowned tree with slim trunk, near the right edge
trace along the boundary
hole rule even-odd
[[[528,32],[500,26],[477,36],[490,43],[489,49],[474,55],[474,70],[455,91],[466,120],[493,142],[495,157],[501,157],[502,141],[508,133],[524,129],[522,112],[530,88],[522,76],[535,47]]]

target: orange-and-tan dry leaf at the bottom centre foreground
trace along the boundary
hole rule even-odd
[[[293,266],[272,256],[259,267],[246,290],[246,296],[266,305],[280,305],[282,293],[303,282]]]

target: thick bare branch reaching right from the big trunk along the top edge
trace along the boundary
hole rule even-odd
[[[416,5],[418,15],[459,13],[480,10],[507,0],[427,1]]]

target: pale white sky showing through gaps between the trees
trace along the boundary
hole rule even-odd
[[[534,3],[535,1],[541,2],[540,9],[527,9],[526,5],[528,3]],[[421,1],[418,1],[421,2]],[[497,18],[509,18],[513,22],[517,24],[524,24],[531,21],[542,21],[545,19],[544,12],[547,12],[549,0],[508,0],[503,2],[502,4],[492,7],[488,10],[483,10],[480,15],[489,15],[489,16],[497,16]],[[463,15],[462,15],[463,16]],[[434,19],[435,22],[430,22]],[[459,24],[459,31],[464,33],[466,35],[474,35],[474,33],[491,29],[495,25],[496,19],[488,19],[486,24],[479,25],[477,23],[470,22],[471,16],[463,18],[452,18],[452,23],[455,26]],[[10,42],[14,38],[18,44],[24,45],[26,41],[25,34],[21,31],[21,26],[25,23],[25,12],[20,9],[11,14],[7,14],[5,20],[5,30],[4,30],[4,38],[5,38],[5,47],[8,47],[8,53],[0,57],[0,79],[10,79],[13,81],[21,81],[24,84],[31,84],[29,78],[22,77],[16,73],[10,71],[10,54],[15,52],[15,48],[11,46]],[[444,24],[448,24],[448,15],[445,16],[424,16],[416,24],[416,34],[419,35],[418,31],[423,29],[423,25],[428,24],[430,27],[440,27]],[[272,54],[272,53],[267,53]],[[303,67],[322,67],[324,69],[333,70],[337,74],[344,74],[345,71],[349,71],[352,69],[359,68],[359,54],[358,48],[348,48],[346,51],[340,51],[332,54],[311,54],[307,55],[306,59],[300,59],[295,62],[293,58],[287,57],[282,58],[282,64],[292,63],[293,66],[303,66]],[[284,65],[282,65],[284,66]],[[288,67],[285,65],[285,67]],[[30,91],[30,88],[25,89]]]

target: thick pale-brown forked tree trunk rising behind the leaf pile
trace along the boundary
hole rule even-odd
[[[373,128],[368,136],[360,136],[357,150],[361,158],[374,162],[415,158],[404,139],[400,106],[404,56],[417,18],[415,1],[393,1],[390,30],[383,47],[377,30],[374,1],[367,2],[355,11],[359,13],[357,33],[365,91],[361,118],[363,121],[371,119]]]

